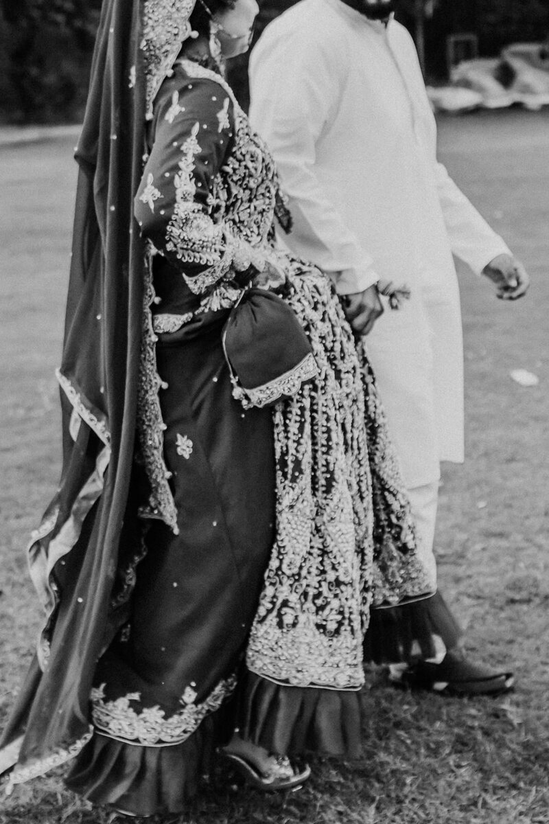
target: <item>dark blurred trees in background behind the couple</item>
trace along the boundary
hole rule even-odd
[[[295,0],[263,0],[258,33]],[[81,119],[101,0],[0,0],[0,119],[67,123]],[[398,18],[425,53],[426,77],[447,75],[446,40],[477,34],[480,54],[518,40],[546,40],[549,0],[401,0]],[[257,36],[257,35],[256,35]],[[248,103],[248,61],[230,81]]]

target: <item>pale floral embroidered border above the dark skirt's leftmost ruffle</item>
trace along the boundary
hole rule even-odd
[[[105,684],[101,684],[91,691],[91,718],[100,733],[118,740],[138,742],[145,747],[180,744],[194,733],[207,714],[219,709],[235,686],[235,676],[220,681],[201,704],[195,703],[197,692],[188,686],[179,701],[181,709],[166,718],[158,705],[142,707],[140,712],[133,709],[132,704],[141,700],[139,692],[105,700]]]

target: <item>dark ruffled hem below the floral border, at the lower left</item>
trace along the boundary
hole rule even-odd
[[[65,779],[67,788],[94,804],[111,804],[138,816],[184,812],[215,748],[226,742],[216,715],[181,744],[140,747],[95,733]]]

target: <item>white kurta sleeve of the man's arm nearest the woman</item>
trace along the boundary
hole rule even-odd
[[[250,60],[250,120],[277,162],[289,199],[288,245],[293,248],[295,238],[300,255],[331,274],[338,293],[356,293],[378,277],[315,172],[316,143],[337,108],[333,54],[320,59],[319,49],[326,49],[322,42],[311,47],[297,35],[281,49],[276,35],[262,35]]]

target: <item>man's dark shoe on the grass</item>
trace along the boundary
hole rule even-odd
[[[402,674],[390,675],[389,682],[393,686],[439,695],[501,695],[513,689],[514,675],[472,663],[463,652],[453,649],[446,653],[440,664],[418,661]]]

